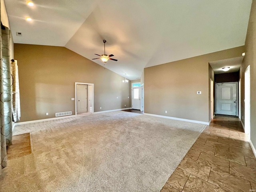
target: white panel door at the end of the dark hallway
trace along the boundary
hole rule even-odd
[[[217,114],[236,116],[236,83],[217,83]]]

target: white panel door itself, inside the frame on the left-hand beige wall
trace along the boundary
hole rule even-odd
[[[77,112],[87,112],[87,85],[77,85]]]

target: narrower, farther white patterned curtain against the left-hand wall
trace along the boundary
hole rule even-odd
[[[12,114],[14,122],[20,120],[20,87],[17,61],[11,62],[12,73]]]

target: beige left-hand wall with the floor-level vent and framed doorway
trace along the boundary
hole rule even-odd
[[[21,122],[53,118],[56,112],[75,114],[71,100],[75,82],[94,84],[94,112],[130,106],[130,84],[122,83],[122,76],[67,48],[14,44],[14,56],[19,67]]]

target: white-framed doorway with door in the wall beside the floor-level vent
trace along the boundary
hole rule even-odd
[[[94,84],[75,82],[75,112],[94,113]]]

